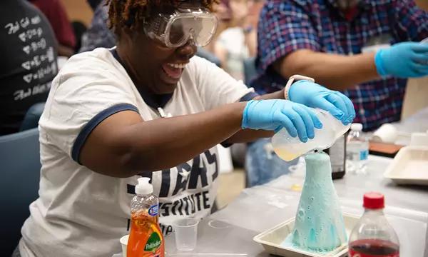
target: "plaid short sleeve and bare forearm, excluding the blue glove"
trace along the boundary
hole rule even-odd
[[[293,74],[311,76],[335,90],[378,78],[374,54],[321,53],[317,31],[306,8],[295,1],[265,5],[259,26],[263,69],[273,64],[275,71],[285,78]]]

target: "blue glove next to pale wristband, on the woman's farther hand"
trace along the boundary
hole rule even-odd
[[[288,97],[296,103],[328,111],[345,125],[355,118],[354,105],[347,96],[310,81],[302,80],[292,84]]]

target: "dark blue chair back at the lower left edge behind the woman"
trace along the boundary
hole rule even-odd
[[[29,217],[29,205],[39,197],[39,130],[0,136],[0,253],[11,256]]]

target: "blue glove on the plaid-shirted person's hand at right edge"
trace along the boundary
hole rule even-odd
[[[374,56],[380,76],[417,78],[428,75],[428,44],[404,42],[380,49]]]

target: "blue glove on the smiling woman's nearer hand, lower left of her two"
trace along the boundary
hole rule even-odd
[[[290,136],[300,141],[314,138],[314,127],[322,128],[315,113],[302,104],[288,100],[251,100],[243,112],[243,129],[279,131],[287,129]]]

